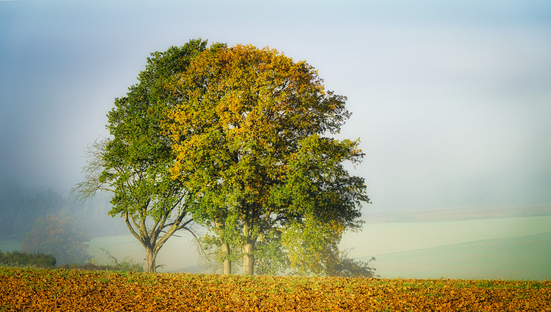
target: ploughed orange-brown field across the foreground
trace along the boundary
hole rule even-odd
[[[551,311],[550,281],[0,268],[0,311]]]

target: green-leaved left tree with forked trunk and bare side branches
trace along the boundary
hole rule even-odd
[[[138,84],[128,88],[108,114],[110,138],[96,141],[88,149],[85,179],[73,191],[80,199],[96,191],[110,191],[111,216],[120,214],[129,232],[144,246],[145,271],[155,272],[155,258],[177,230],[188,230],[187,218],[195,205],[195,191],[185,180],[171,179],[175,158],[165,120],[176,100],[165,84],[185,71],[190,60],[206,49],[206,41],[190,40],[166,52],[151,53]]]

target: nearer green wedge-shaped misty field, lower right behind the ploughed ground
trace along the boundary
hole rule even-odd
[[[551,279],[551,232],[375,255],[383,278]],[[357,260],[367,261],[370,257]]]

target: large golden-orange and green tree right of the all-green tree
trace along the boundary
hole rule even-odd
[[[361,202],[369,202],[364,180],[349,176],[342,162],[357,164],[364,154],[358,140],[322,137],[337,133],[350,114],[345,96],[325,92],[314,67],[268,48],[217,45],[178,78],[170,82],[179,98],[169,123],[171,173],[197,190],[194,219],[213,229],[222,247],[242,248],[245,274],[286,248],[304,250],[296,245],[304,240],[285,235],[309,220],[320,229],[334,225],[338,239],[361,227]],[[230,259],[231,248],[222,250]]]

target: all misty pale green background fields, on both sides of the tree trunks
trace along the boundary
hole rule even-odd
[[[500,207],[504,207],[507,213],[525,211],[528,214],[530,211],[541,213],[549,206],[542,204]],[[492,207],[495,212],[498,206]],[[516,207],[516,210],[511,207]],[[444,211],[455,211],[458,218],[468,217],[469,212],[477,212],[472,207]],[[423,213],[424,216],[430,215]],[[503,215],[507,213],[504,212]],[[398,214],[394,216],[401,218]],[[474,213],[471,217],[473,216],[480,214]],[[345,233],[339,247],[355,248],[350,255],[359,260],[375,256],[377,260],[370,265],[377,268],[377,274],[387,278],[447,275],[453,278],[551,279],[551,245],[545,236],[549,233],[551,216],[447,222],[366,223],[362,232]],[[527,236],[537,234],[543,236],[533,236],[535,239]],[[159,252],[156,264],[166,264],[164,268],[159,268],[159,271],[204,272],[204,268],[198,266],[196,248],[190,243],[192,236],[185,232],[177,235],[182,237],[170,238]],[[89,253],[95,256],[96,261],[109,263],[109,259],[100,248],[109,250],[118,260],[131,256],[141,262],[145,258],[143,247],[132,235],[105,236],[94,238],[90,242]],[[19,243],[1,241],[0,249],[19,249]]]

